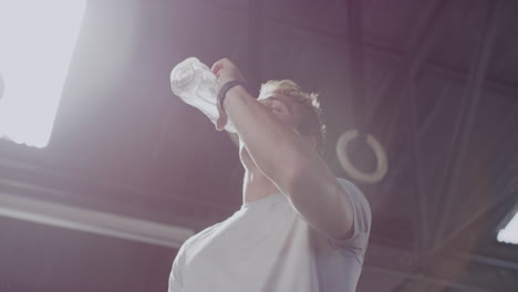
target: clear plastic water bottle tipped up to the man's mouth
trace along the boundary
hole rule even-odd
[[[178,63],[170,72],[170,88],[182,101],[198,108],[216,125],[219,117],[219,85],[216,75],[206,64],[194,56]],[[230,121],[225,129],[236,133]]]

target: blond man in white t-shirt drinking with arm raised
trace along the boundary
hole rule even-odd
[[[371,210],[318,150],[323,126],[315,94],[291,81],[262,85],[259,98],[229,60],[213,66],[245,167],[244,205],[188,239],[173,263],[169,292],[350,292],[365,253]]]

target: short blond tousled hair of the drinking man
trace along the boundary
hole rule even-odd
[[[312,135],[317,139],[317,149],[323,152],[325,124],[322,121],[322,109],[318,93],[307,93],[291,80],[270,80],[261,85],[258,100],[267,98],[272,93],[279,93],[293,98],[300,105],[302,116],[298,131],[301,135]]]

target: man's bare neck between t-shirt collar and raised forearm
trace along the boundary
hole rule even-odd
[[[279,194],[280,190],[258,168],[248,168],[242,182],[242,202],[260,200],[268,196]]]

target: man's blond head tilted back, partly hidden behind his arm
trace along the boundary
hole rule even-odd
[[[258,101],[270,106],[273,114],[291,124],[304,137],[313,137],[321,154],[325,125],[321,118],[317,93],[305,93],[291,80],[271,80],[262,84]]]

